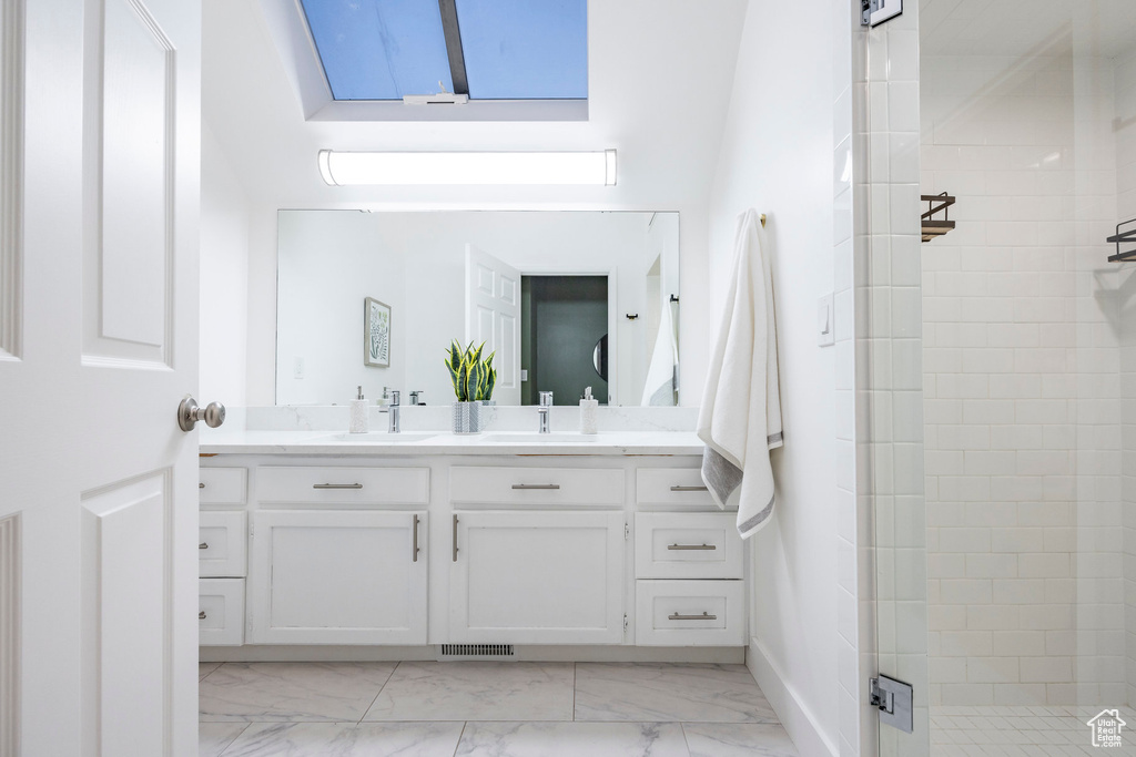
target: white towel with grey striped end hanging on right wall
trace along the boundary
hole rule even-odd
[[[741,488],[737,530],[753,536],[774,512],[769,451],[782,446],[777,331],[769,259],[761,253],[758,213],[737,219],[734,278],[710,359],[699,412],[702,480],[719,507]]]

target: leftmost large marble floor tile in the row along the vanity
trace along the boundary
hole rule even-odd
[[[226,663],[198,684],[200,720],[358,722],[394,667],[395,663]]]

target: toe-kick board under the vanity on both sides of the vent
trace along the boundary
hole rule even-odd
[[[741,665],[745,647],[633,647],[517,645],[516,662],[567,663],[716,663]],[[201,647],[202,663],[393,662],[437,659],[437,645],[424,647],[245,645]]]

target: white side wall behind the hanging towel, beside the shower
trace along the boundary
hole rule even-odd
[[[736,216],[752,207],[769,219],[785,446],[772,453],[776,514],[751,540],[751,653],[807,755],[835,754],[840,730],[835,352],[816,334],[817,298],[833,291],[833,49],[847,47],[835,42],[838,12],[750,3],[709,213],[713,303],[729,284]]]

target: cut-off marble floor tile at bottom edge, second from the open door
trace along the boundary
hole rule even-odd
[[[452,757],[463,723],[253,723],[224,757]]]

